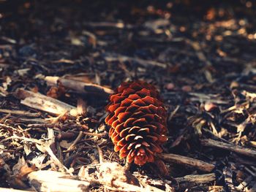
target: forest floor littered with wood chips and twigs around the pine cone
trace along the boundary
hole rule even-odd
[[[0,191],[256,191],[255,17],[245,0],[0,1]],[[165,101],[167,176],[106,163],[125,163],[104,119],[128,80]]]

